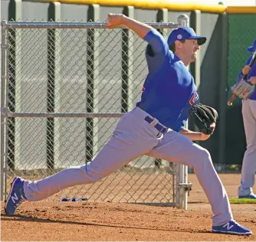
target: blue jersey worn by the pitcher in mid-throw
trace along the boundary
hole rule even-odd
[[[136,106],[178,132],[185,126],[192,104],[199,99],[194,78],[158,31],[149,31],[144,40],[149,43],[146,48],[149,74]]]

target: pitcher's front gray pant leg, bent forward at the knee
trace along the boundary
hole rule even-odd
[[[171,130],[148,155],[194,168],[212,206],[213,225],[219,226],[232,219],[228,195],[206,149]]]

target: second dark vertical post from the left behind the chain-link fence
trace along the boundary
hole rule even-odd
[[[48,7],[48,21],[61,20],[61,3],[51,2]],[[60,67],[60,55],[57,46],[60,43],[56,29],[48,29],[48,86],[47,86],[47,112],[54,113],[55,110],[55,84],[58,75],[57,68]],[[48,172],[54,170],[54,118],[47,119],[46,131],[46,157]],[[56,139],[56,138],[55,138]]]

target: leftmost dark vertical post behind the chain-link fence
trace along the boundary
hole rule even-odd
[[[10,0],[8,5],[8,21],[21,20],[21,0]],[[21,62],[18,61],[18,50],[17,50],[17,30],[10,29],[8,34],[9,54],[8,54],[8,96],[6,106],[10,112],[15,112],[16,107],[16,83],[18,67]],[[7,165],[11,171],[15,170],[15,118],[8,118],[8,143],[7,143]]]

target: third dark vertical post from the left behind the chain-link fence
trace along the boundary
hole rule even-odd
[[[100,19],[100,5],[89,5],[87,12],[87,21],[99,21]],[[94,113],[97,110],[95,100],[98,98],[97,89],[99,85],[99,42],[100,32],[95,28],[89,28],[87,31],[87,113]],[[94,157],[95,133],[97,129],[94,127],[93,118],[86,119],[86,162],[90,162]]]

